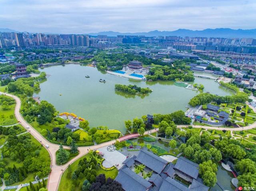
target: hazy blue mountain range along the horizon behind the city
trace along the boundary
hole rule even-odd
[[[144,36],[189,36],[189,37],[223,37],[223,38],[256,38],[256,29],[230,29],[230,28],[216,28],[216,29],[205,29],[205,30],[188,30],[178,29],[175,31],[150,31],[150,32],[136,32],[136,33],[120,33],[113,31],[89,33],[89,35],[144,35]]]

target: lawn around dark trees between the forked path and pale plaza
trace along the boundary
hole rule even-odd
[[[90,157],[90,154],[86,154],[85,156],[81,157],[80,159],[83,159],[85,157],[86,158]],[[72,183],[71,183],[72,172],[74,172],[74,170],[76,170],[76,168],[78,167],[78,163],[79,163],[80,159],[74,161],[74,163],[72,163],[68,167],[68,169],[66,169],[64,171],[64,173],[62,174],[61,180],[60,180],[60,185],[59,185],[58,191],[63,191],[63,190],[65,190],[65,191],[71,191],[71,190],[72,191],[81,191],[81,187],[82,187],[82,183],[83,183],[84,179],[78,178],[79,185],[75,186],[75,187],[72,187]],[[110,171],[105,171],[105,170],[101,169],[99,166],[97,167],[96,171],[97,171],[97,175],[104,173],[106,175],[106,179],[108,177],[111,177],[114,179],[118,173],[118,170],[116,168],[113,170],[110,170]]]

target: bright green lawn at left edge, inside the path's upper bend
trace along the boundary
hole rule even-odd
[[[14,108],[16,104],[9,105],[9,110],[3,110],[0,106],[0,125],[12,125],[18,123],[14,116]]]

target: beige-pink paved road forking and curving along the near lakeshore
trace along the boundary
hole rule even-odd
[[[65,165],[58,166],[55,163],[55,161],[56,161],[55,153],[59,149],[59,145],[52,144],[51,142],[46,140],[39,132],[37,132],[32,126],[30,126],[30,124],[28,124],[28,122],[26,122],[24,120],[24,118],[20,114],[20,106],[21,106],[20,98],[18,98],[17,96],[8,94],[8,93],[5,93],[5,95],[10,96],[10,97],[12,97],[16,100],[16,106],[15,106],[14,114],[16,116],[16,119],[18,121],[20,121],[20,124],[24,128],[26,128],[28,130],[28,132],[32,136],[34,136],[34,138],[36,138],[45,148],[46,148],[46,146],[45,146],[46,144],[49,146],[49,148],[46,148],[46,149],[48,150],[48,152],[50,154],[52,172],[50,173],[49,178],[48,178],[48,185],[47,185],[48,191],[57,191],[58,190],[58,185],[60,183],[60,179],[61,179],[63,171],[65,171],[65,169],[68,167],[68,165],[72,164],[74,161],[76,161],[80,157],[87,154],[89,149],[95,150],[95,149],[98,149],[98,148],[101,148],[101,147],[104,147],[104,146],[109,146],[109,145],[114,144],[116,142],[116,140],[112,140],[112,141],[105,142],[105,143],[102,143],[102,144],[98,144],[98,145],[95,145],[95,146],[78,147],[78,150],[79,150],[78,156],[76,156],[75,158],[68,161],[68,163],[66,163]],[[252,106],[250,106],[250,107],[252,107]],[[181,127],[186,127],[186,126],[178,125],[177,127],[181,128]],[[198,125],[194,125],[193,127],[194,128],[204,128],[204,129],[217,129],[218,128],[218,127],[198,126]],[[248,129],[252,129],[252,128],[255,128],[255,127],[256,127],[256,123],[251,124],[251,125],[246,126],[246,127],[243,127],[243,128],[235,128],[235,129],[234,128],[218,128],[218,130],[238,130],[239,131],[239,130],[248,130]],[[149,130],[149,131],[146,131],[144,134],[149,134],[149,133],[157,132],[157,131],[158,131],[158,129]],[[120,138],[120,140],[123,140],[123,138]],[[69,148],[69,147],[64,146],[63,148]]]

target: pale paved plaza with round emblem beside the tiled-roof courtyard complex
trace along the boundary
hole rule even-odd
[[[122,166],[122,162],[126,159],[122,153],[116,150],[115,146],[105,146],[98,149],[102,154],[104,154],[103,158],[105,159],[102,165],[106,168],[117,166],[119,169]]]

